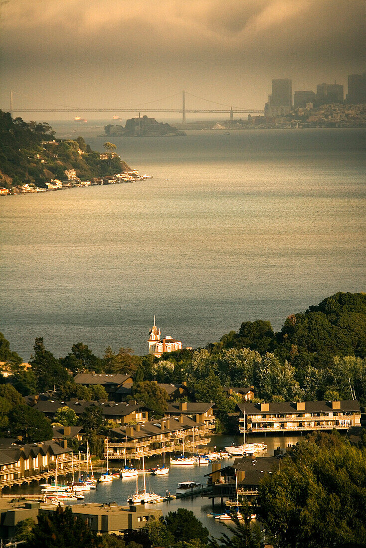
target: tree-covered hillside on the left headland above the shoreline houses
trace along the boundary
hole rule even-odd
[[[46,181],[65,180],[65,169],[75,169],[80,179],[131,170],[117,155],[100,158],[82,137],[60,140],[54,134],[47,123],[26,123],[0,111],[0,186],[33,183],[46,188]]]

